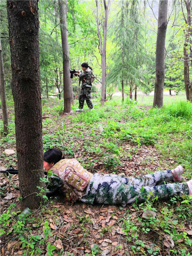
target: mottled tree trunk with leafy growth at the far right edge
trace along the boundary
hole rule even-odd
[[[186,22],[186,30],[184,30],[185,33],[185,43],[183,48],[184,53],[184,83],[185,83],[185,92],[187,100],[192,102],[192,88],[190,84],[190,77],[189,77],[189,56],[188,56],[188,45],[189,45],[189,38],[191,34],[191,10],[190,10],[190,4],[191,0],[185,0],[185,6],[187,9],[187,20]],[[185,18],[185,16],[184,16]]]

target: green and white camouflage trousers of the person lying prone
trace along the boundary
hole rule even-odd
[[[134,201],[138,203],[148,198],[167,198],[189,194],[187,183],[164,184],[172,181],[170,170],[157,171],[141,178],[128,178],[120,175],[94,174],[81,201],[85,203],[120,204],[126,206]],[[164,185],[162,185],[164,184]]]

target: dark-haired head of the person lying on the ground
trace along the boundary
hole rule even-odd
[[[45,170],[50,170],[53,165],[62,159],[62,152],[57,148],[51,148],[46,151],[43,156],[43,167]]]

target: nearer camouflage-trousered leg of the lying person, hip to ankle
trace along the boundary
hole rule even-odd
[[[146,201],[147,198],[167,198],[170,196],[189,195],[192,191],[192,181],[187,183],[173,183],[154,187],[129,186],[129,179],[120,175],[100,175],[94,174],[90,181],[89,189],[86,190],[82,201],[85,203],[101,204],[126,204]],[[124,183],[125,182],[125,183]],[[192,193],[192,192],[191,192]]]

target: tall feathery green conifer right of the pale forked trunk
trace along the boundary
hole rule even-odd
[[[113,62],[106,83],[114,86],[122,83],[124,86],[128,84],[139,86],[141,80],[144,80],[141,66],[149,61],[142,43],[144,38],[141,33],[139,3],[122,0],[120,4],[121,10],[117,14],[117,22],[113,28],[115,45],[114,53],[111,55]]]

